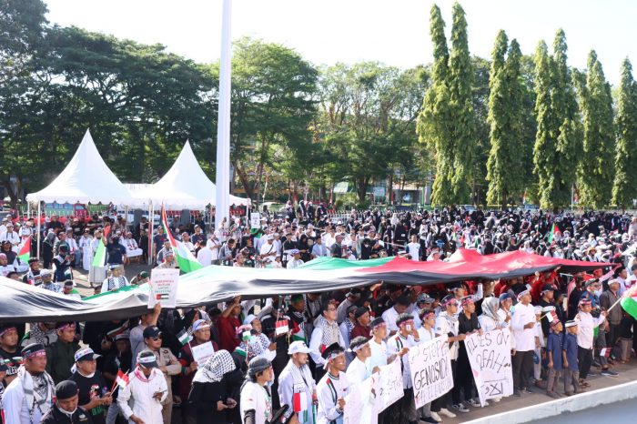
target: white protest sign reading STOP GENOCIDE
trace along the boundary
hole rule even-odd
[[[447,336],[442,336],[410,348],[411,382],[416,409],[453,388],[447,340]]]

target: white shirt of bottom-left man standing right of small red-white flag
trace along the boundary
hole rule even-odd
[[[161,400],[153,398],[153,394],[157,391],[162,392]],[[117,406],[130,424],[135,424],[130,420],[132,415],[142,419],[144,424],[163,424],[161,402],[166,399],[167,395],[166,379],[158,368],[153,368],[148,379],[143,377],[141,371],[136,370],[128,374],[126,388],[119,388]]]

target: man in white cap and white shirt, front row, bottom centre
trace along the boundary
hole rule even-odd
[[[293,341],[288,348],[288,365],[278,376],[278,398],[297,413],[300,424],[315,422],[316,383],[308,367],[310,348],[301,341]]]

